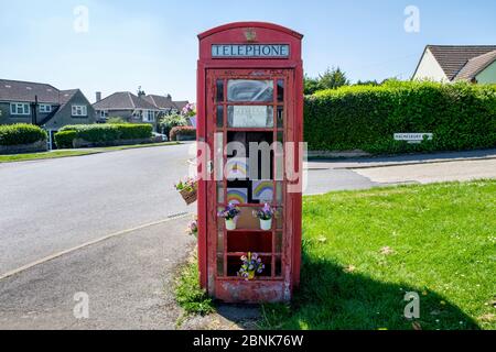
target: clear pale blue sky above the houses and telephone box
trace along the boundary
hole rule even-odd
[[[195,101],[196,35],[263,21],[304,34],[309,76],[339,66],[352,81],[409,79],[428,44],[496,44],[495,13],[494,0],[0,0],[0,78],[91,102],[140,86]]]

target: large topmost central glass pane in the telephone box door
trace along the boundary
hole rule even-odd
[[[272,80],[230,79],[227,82],[228,101],[273,101]]]

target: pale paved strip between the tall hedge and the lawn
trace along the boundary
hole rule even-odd
[[[311,161],[306,195],[398,184],[496,178],[496,150]]]

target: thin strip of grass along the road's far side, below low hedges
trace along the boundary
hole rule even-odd
[[[0,163],[12,163],[12,162],[28,162],[45,158],[57,158],[67,156],[80,156],[90,155],[106,152],[132,150],[140,147],[153,147],[153,146],[164,146],[164,145],[176,145],[179,142],[163,142],[153,144],[137,144],[137,145],[121,145],[121,146],[107,146],[107,147],[94,147],[94,148],[82,148],[82,150],[61,150],[44,153],[31,153],[31,154],[13,154],[13,155],[0,155]]]

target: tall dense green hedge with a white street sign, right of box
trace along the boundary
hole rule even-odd
[[[324,90],[305,98],[311,151],[369,153],[456,151],[496,146],[496,86],[389,82]],[[408,144],[393,133],[433,133]]]

